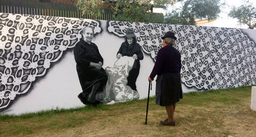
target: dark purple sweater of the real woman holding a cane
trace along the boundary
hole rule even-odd
[[[155,66],[149,77],[153,79],[156,75],[164,73],[180,73],[180,70],[180,52],[172,46],[165,46],[158,51]]]

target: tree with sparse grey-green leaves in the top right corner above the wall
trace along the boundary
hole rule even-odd
[[[246,24],[249,29],[256,28],[256,8],[249,1],[244,1],[240,7],[233,6],[228,16],[238,19],[238,24]]]

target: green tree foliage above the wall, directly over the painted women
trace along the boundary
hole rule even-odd
[[[162,14],[156,19],[150,19],[153,7],[166,9],[176,1],[180,0],[116,0],[115,6],[112,7],[108,0],[78,0],[76,7],[83,14],[94,15],[95,19],[101,17],[103,9],[100,7],[105,6],[112,7],[113,19],[117,21],[163,23]]]

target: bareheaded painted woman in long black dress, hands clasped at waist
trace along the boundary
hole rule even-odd
[[[108,76],[102,68],[103,58],[96,44],[91,42],[93,37],[93,28],[85,27],[82,30],[82,38],[74,48],[76,70],[83,90],[78,98],[85,105],[98,105],[100,103],[95,96],[103,92],[108,80]]]

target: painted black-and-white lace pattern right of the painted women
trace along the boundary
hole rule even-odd
[[[132,28],[143,51],[154,60],[161,37],[174,32],[181,53],[181,80],[188,87],[210,90],[256,83],[255,42],[241,29],[123,21],[109,21],[108,26],[118,36]]]

